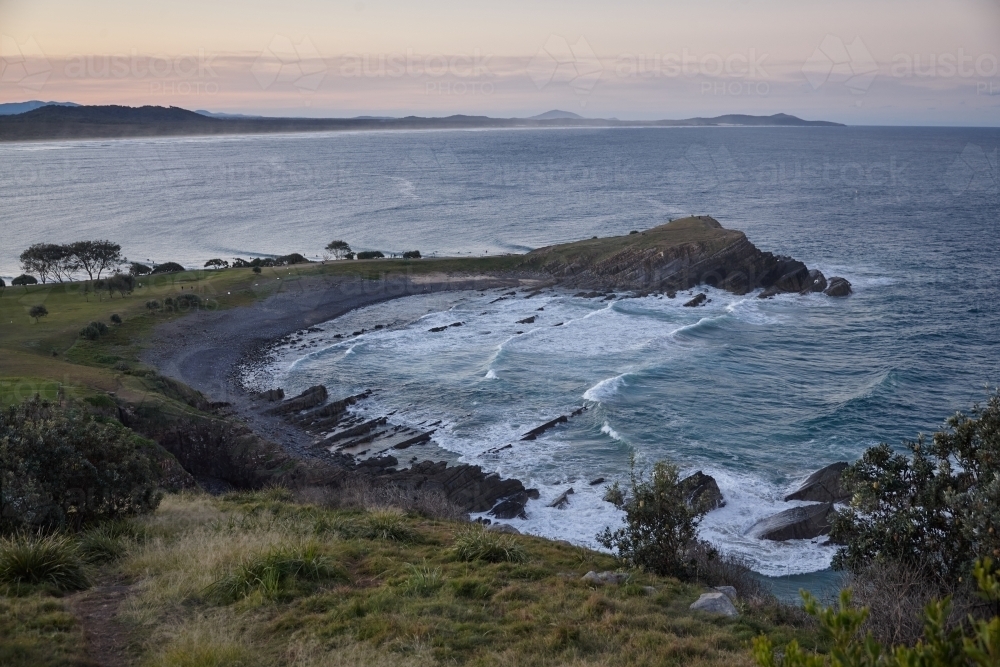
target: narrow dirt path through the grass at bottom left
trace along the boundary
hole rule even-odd
[[[117,620],[129,587],[108,582],[85,592],[73,604],[73,613],[87,640],[87,655],[101,667],[127,667],[128,633]]]

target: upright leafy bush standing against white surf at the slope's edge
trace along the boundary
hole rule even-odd
[[[685,502],[676,466],[657,462],[647,480],[633,460],[628,494],[615,482],[605,500],[625,512],[625,525],[615,531],[605,528],[598,542],[630,567],[683,579],[696,575],[688,552],[697,546],[704,512]]]

